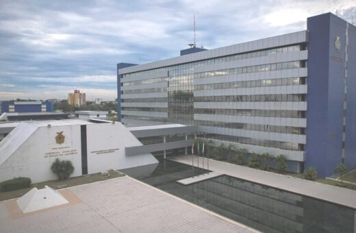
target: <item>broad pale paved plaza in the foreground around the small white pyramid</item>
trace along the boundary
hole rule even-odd
[[[0,232],[255,232],[131,177],[63,191],[70,204],[31,214],[0,202]]]

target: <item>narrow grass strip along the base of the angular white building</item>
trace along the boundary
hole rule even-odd
[[[91,175],[81,175],[78,177],[73,177],[69,178],[68,180],[52,180],[48,182],[40,182],[37,184],[31,184],[31,187],[29,188],[21,188],[17,189],[14,191],[8,191],[8,192],[0,192],[0,201],[5,201],[8,199],[13,199],[17,197],[23,196],[25,193],[27,193],[31,188],[44,188],[45,185],[53,188],[53,189],[59,189],[59,188],[66,188],[66,187],[71,187],[71,186],[77,186],[80,184],[89,184],[92,182],[98,182],[102,180],[110,180],[113,178],[121,177],[124,176],[125,174],[120,173],[118,171],[110,170],[109,171],[110,177],[105,177],[103,175],[100,175],[100,173],[94,173]]]

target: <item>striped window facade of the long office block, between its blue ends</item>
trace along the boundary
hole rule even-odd
[[[283,109],[283,107],[279,107],[277,109],[271,106],[270,108],[262,109],[256,104],[251,105],[250,103],[275,102],[275,104],[281,105],[282,102],[283,104],[288,102],[304,102],[306,92],[295,89],[293,93],[288,93],[288,91],[285,92],[285,90],[290,90],[286,89],[287,87],[303,88],[303,86],[306,86],[306,75],[291,75],[294,71],[305,68],[307,66],[306,60],[289,60],[283,62],[283,60],[274,59],[275,62],[267,62],[268,60],[266,59],[266,64],[249,65],[249,63],[244,63],[244,60],[250,58],[272,58],[271,56],[277,56],[279,54],[292,55],[292,53],[300,53],[305,49],[305,44],[301,43],[298,45],[287,45],[284,47],[274,47],[260,51],[248,51],[246,53],[198,60],[186,64],[165,66],[147,71],[124,73],[123,78],[120,80],[121,86],[124,87],[121,91],[121,95],[123,95],[121,96],[121,99],[122,102],[125,103],[122,108],[122,110],[125,110],[125,114],[122,116],[123,123],[128,125],[130,122],[133,125],[138,124],[138,121],[142,121],[142,125],[152,125],[155,123],[181,123],[183,125],[203,125],[216,128],[304,135],[305,127],[295,127],[295,125],[288,124],[274,125],[273,123],[238,122],[238,117],[247,116],[251,117],[251,119],[253,117],[260,117],[261,119],[305,119],[305,108],[291,110],[290,108]],[[238,62],[240,63],[238,64]],[[236,66],[236,68],[201,71],[202,68],[209,65],[224,63],[229,64],[230,67],[231,64],[233,64],[232,66]],[[164,73],[166,73],[166,75],[164,75]],[[253,74],[253,78],[246,80],[246,75],[249,75],[250,73]],[[155,74],[160,75],[161,77],[154,77]],[[164,75],[164,77],[162,77],[162,75]],[[239,80],[242,75],[244,75],[244,79]],[[211,77],[215,77],[214,81],[209,79]],[[221,80],[216,78],[221,78]],[[230,82],[231,79],[235,79],[236,81]],[[202,83],[202,81],[205,83]],[[145,88],[142,84],[150,84],[150,87]],[[137,85],[141,86],[135,88]],[[161,87],[155,87],[155,85]],[[129,87],[129,90],[125,87]],[[279,87],[280,89],[275,89]],[[267,88],[269,89],[267,90]],[[215,90],[220,92],[215,93]],[[221,90],[226,91],[221,92]],[[237,93],[241,92],[241,94],[231,95],[230,90]],[[203,93],[203,91],[210,92]],[[138,96],[135,97],[132,94],[137,94]],[[149,94],[149,96],[142,97],[145,94]],[[164,97],[164,95],[166,95],[166,97]],[[162,104],[162,106],[147,106],[147,103],[159,102],[164,104]],[[248,104],[247,106],[249,106],[249,108],[246,108],[246,106],[241,106],[239,108],[229,106],[227,108],[226,105],[224,108],[222,106],[219,106],[219,108],[216,108],[216,106],[194,107],[194,103],[212,104],[220,102],[244,102]],[[130,106],[130,103],[134,103],[134,105]],[[129,113],[129,111],[132,111],[133,113]],[[140,114],[141,116],[138,116],[134,112],[145,112],[145,114]],[[160,115],[159,113],[162,112],[167,113],[167,115]],[[209,118],[209,116],[212,115],[216,117],[236,116],[236,122],[219,120],[216,118],[213,120]],[[194,119],[194,117],[196,118]],[[147,123],[144,123],[144,121],[147,121]],[[294,151],[304,150],[304,144],[301,143],[222,134],[209,135],[212,139],[228,140],[234,143],[275,147]]]

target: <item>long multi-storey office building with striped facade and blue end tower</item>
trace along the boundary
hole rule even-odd
[[[356,27],[331,13],[307,29],[148,64],[119,63],[118,120],[196,125],[217,144],[320,177],[356,165]]]

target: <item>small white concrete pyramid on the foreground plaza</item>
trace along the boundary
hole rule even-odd
[[[49,186],[44,186],[42,189],[32,188],[28,193],[17,199],[17,204],[24,214],[68,203],[60,192]]]

